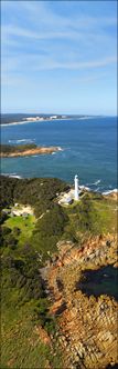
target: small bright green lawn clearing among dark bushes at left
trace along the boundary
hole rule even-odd
[[[20,236],[18,236],[19,245],[22,246],[30,237],[35,227],[35,217],[29,215],[26,219],[23,219],[22,216],[13,217],[7,219],[4,226],[13,230],[14,227],[18,227],[21,230]]]

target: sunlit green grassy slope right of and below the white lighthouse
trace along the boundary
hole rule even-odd
[[[66,208],[69,218],[65,232],[62,236],[65,239],[73,238],[77,241],[82,240],[82,236],[104,235],[117,232],[117,211],[116,201],[99,198],[94,193],[87,195],[84,202],[84,196],[79,202],[73,203]]]

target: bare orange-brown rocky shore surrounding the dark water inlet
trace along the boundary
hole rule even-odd
[[[118,362],[117,301],[107,293],[88,297],[76,286],[86,270],[105,266],[116,270],[117,238],[108,233],[89,238],[81,249],[72,242],[58,242],[57,248],[58,255],[42,277],[51,299],[50,313],[58,321],[56,345],[62,347],[64,368],[112,367]]]

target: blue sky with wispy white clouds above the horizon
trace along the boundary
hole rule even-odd
[[[2,112],[117,114],[117,1],[1,1]]]

